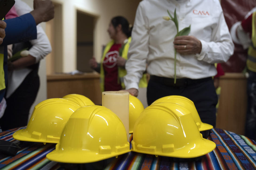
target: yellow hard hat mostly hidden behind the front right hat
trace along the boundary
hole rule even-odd
[[[156,103],[162,103],[162,102],[177,103],[179,105],[182,105],[186,109],[188,109],[191,112],[192,117],[193,117],[194,121],[196,122],[199,131],[205,131],[205,130],[209,130],[209,129],[213,128],[212,125],[207,124],[207,123],[203,123],[201,121],[193,101],[191,101],[187,97],[175,96],[175,95],[173,95],[173,96],[165,96],[165,97],[162,97],[160,99],[157,99],[151,105],[156,104]]]

